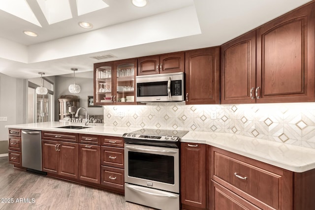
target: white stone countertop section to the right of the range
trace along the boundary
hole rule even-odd
[[[231,133],[189,131],[181,142],[211,145],[293,172],[315,168],[315,149]]]

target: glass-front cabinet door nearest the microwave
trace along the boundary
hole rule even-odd
[[[125,60],[115,65],[117,72],[116,100],[115,102],[134,102],[134,82],[136,60]]]

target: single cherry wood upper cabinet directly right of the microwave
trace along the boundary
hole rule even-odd
[[[185,53],[186,104],[220,103],[220,47]]]

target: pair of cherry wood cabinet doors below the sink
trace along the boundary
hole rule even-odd
[[[42,140],[42,170],[78,178],[78,143]]]

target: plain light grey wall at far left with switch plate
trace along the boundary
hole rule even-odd
[[[26,91],[27,80],[16,79],[0,73],[0,117],[7,117],[7,121],[0,121],[0,141],[1,147],[6,145],[6,149],[0,150],[7,153],[8,130],[5,125],[21,124],[26,122]]]

